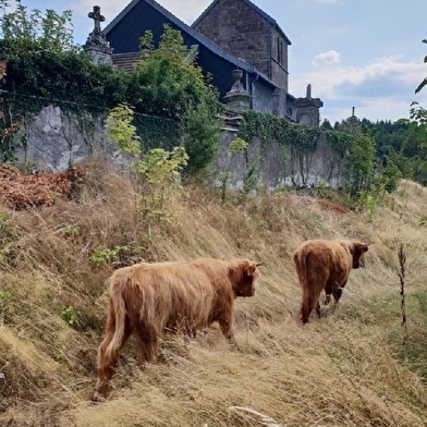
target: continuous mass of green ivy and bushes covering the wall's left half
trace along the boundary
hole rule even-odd
[[[27,12],[20,3],[15,12],[3,16],[2,26],[0,61],[8,60],[8,77],[0,88],[8,94],[3,102],[8,113],[0,132],[50,105],[65,115],[75,114],[84,127],[93,122],[88,113],[100,115],[129,105],[134,109],[135,136],[146,149],[170,150],[181,144],[188,149],[188,174],[205,169],[217,155],[217,117],[223,107],[209,78],[190,59],[179,32],[164,26],[158,49],[147,33],[142,38],[144,61],[126,74],[95,65],[72,45],[70,11],[48,10],[44,16],[38,10]],[[15,148],[16,141],[8,137],[1,147],[3,157],[13,160]]]

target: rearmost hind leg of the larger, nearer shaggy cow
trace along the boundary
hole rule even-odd
[[[127,317],[125,318],[122,340],[114,343],[114,345],[109,349],[109,352],[107,353],[107,349],[114,339],[114,332],[115,319],[109,316],[106,326],[106,337],[103,338],[98,349],[98,379],[95,385],[95,392],[93,396],[94,401],[100,401],[106,398],[108,385],[112,375],[114,374],[114,367],[119,359],[119,353],[131,335],[131,325]]]

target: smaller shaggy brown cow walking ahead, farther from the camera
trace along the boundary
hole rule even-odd
[[[308,321],[308,316],[315,308],[320,317],[319,297],[322,290],[326,292],[326,304],[329,304],[331,294],[338,303],[350,270],[361,266],[363,254],[367,251],[366,243],[355,240],[309,240],[295,251],[293,260],[303,291],[303,324]]]

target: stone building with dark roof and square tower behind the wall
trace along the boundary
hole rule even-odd
[[[215,0],[188,26],[154,0],[132,0],[103,29],[113,49],[113,64],[131,70],[139,57],[141,36],[151,30],[158,44],[163,24],[180,30],[188,49],[196,50],[198,65],[211,75],[211,83],[225,103],[235,107],[239,86],[237,103],[243,107],[247,103],[254,111],[294,122],[304,118],[305,124],[319,124],[320,99],[295,98],[289,93],[290,39],[252,1]],[[242,71],[239,82],[235,70]]]

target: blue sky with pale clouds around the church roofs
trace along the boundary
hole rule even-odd
[[[74,41],[84,45],[93,29],[95,4],[111,22],[131,0],[22,0],[29,10],[73,11]],[[211,0],[157,0],[192,24]],[[321,120],[332,124],[355,114],[371,121],[408,117],[411,102],[427,108],[426,0],[253,0],[290,38],[290,93],[324,101]]]

